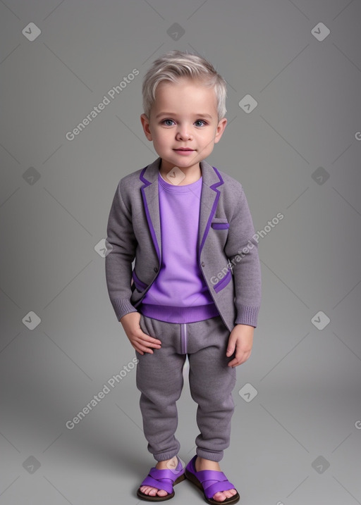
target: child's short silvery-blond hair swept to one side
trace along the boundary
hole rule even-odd
[[[205,87],[214,87],[218,120],[226,116],[227,85],[206,59],[183,51],[169,51],[155,60],[142,84],[143,111],[147,118],[155,101],[155,92],[160,82],[179,82],[181,77],[200,80]]]

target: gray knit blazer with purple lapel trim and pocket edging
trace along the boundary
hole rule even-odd
[[[106,237],[106,286],[120,320],[137,311],[161,268],[158,173],[161,158],[118,182]],[[256,327],[261,303],[257,240],[243,187],[200,162],[197,262],[226,327]]]

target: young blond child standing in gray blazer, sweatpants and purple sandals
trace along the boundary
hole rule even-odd
[[[142,94],[142,127],[159,158],[118,183],[106,255],[109,297],[135,349],[143,428],[157,461],[137,496],[171,499],[173,485],[188,478],[209,504],[234,504],[239,494],[219,461],[230,444],[235,367],[251,354],[261,278],[243,187],[205,161],[226,127],[226,82],[204,58],[171,51],[149,68]],[[183,468],[175,432],[186,356],[200,434]]]

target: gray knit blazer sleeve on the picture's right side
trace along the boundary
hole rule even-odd
[[[256,238],[250,208],[243,187],[240,186],[224,251],[233,270],[236,309],[234,323],[254,328],[257,326],[261,304],[261,267]]]

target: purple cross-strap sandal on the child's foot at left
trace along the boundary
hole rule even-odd
[[[159,497],[157,494],[155,496],[149,496],[149,494],[142,493],[140,487],[137,490],[137,497],[146,501],[165,501],[173,498],[174,490],[173,486],[182,482],[185,479],[185,468],[183,468],[181,460],[178,458],[177,468],[171,470],[165,468],[164,470],[158,470],[155,466],[149,470],[149,473],[145,480],[143,480],[142,486],[152,486],[157,487],[158,490],[164,490],[168,494],[165,497]]]

